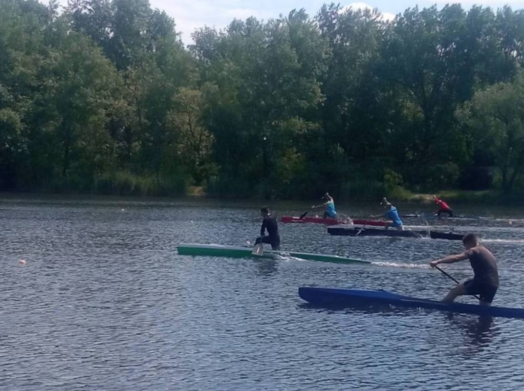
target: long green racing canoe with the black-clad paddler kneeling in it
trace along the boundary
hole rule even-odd
[[[294,257],[308,260],[319,260],[320,262],[333,262],[339,264],[369,264],[368,260],[345,258],[338,255],[324,255],[324,254],[312,254],[312,253],[296,253],[293,251],[273,251],[264,250],[263,255],[254,255],[251,252],[253,248],[249,247],[234,247],[234,246],[222,246],[219,244],[186,244],[182,243],[177,246],[179,255],[204,255],[213,257],[227,257],[227,258],[272,258],[275,259],[278,256],[283,257]]]

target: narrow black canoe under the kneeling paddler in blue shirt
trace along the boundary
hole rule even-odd
[[[432,239],[462,240],[464,234],[438,231],[397,231],[395,228],[376,229],[354,227],[352,225],[333,225],[328,227],[328,233],[336,236],[391,236],[391,237],[431,237]]]

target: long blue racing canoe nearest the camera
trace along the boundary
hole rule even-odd
[[[300,287],[298,288],[298,294],[305,301],[318,306],[390,305],[404,308],[428,308],[448,312],[472,313],[481,316],[524,318],[524,308],[443,303],[442,301],[397,295],[386,290]]]

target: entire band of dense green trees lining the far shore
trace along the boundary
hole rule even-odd
[[[0,190],[524,186],[522,10],[416,7],[387,22],[331,4],[204,27],[185,48],[148,0],[57,4],[0,2]]]

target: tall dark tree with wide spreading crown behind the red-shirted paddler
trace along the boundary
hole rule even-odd
[[[470,159],[454,126],[457,105],[471,98],[478,83],[505,80],[517,67],[493,38],[497,34],[503,32],[489,9],[466,14],[460,5],[408,9],[387,28],[381,74],[400,89],[404,117],[394,126],[392,149],[411,183],[453,186],[459,166]]]

